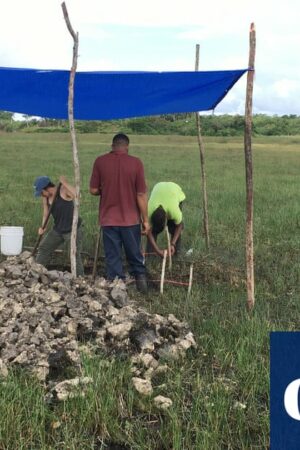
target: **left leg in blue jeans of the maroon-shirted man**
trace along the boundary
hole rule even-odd
[[[121,227],[102,227],[106,274],[109,280],[125,278],[122,266]]]

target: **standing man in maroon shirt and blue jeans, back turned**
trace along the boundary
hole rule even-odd
[[[129,139],[117,134],[112,151],[99,156],[93,166],[90,193],[100,195],[99,223],[103,233],[107,278],[124,279],[122,246],[136,279],[137,289],[147,292],[145,265],[141,253],[143,233],[150,226],[147,213],[147,188],[140,159],[128,155]]]

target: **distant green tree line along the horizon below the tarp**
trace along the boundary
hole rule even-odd
[[[122,129],[122,132],[128,134],[197,135],[194,113],[108,121],[78,120],[75,127],[78,133],[115,133]],[[244,116],[201,115],[201,129],[204,136],[242,136]],[[26,115],[23,115],[23,120],[16,121],[12,113],[0,111],[0,131],[69,132],[69,124],[67,120],[33,119]],[[253,134],[257,136],[300,135],[300,116],[256,114],[253,116]]]

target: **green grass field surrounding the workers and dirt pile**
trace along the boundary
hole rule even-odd
[[[110,135],[79,135],[84,250],[93,254],[98,200],[88,193],[97,155]],[[242,138],[208,138],[206,170],[211,250],[202,233],[199,151],[195,138],[132,136],[149,190],[174,181],[186,193],[184,249],[193,248],[192,295],[166,286],[140,301],[150,311],[187,320],[198,349],[157,380],[154,394],[173,406],[159,413],[132,389],[126,358],[85,358],[94,379],[87,397],[47,405],[26,374],[0,383],[0,449],[266,449],[269,445],[269,332],[300,328],[300,137],[255,138],[256,306],[246,311],[245,179]],[[41,221],[33,198],[38,175],[72,179],[66,134],[0,134],[0,225],[24,226],[33,246]],[[188,265],[182,263],[183,272]],[[159,261],[151,263],[159,271]],[[132,289],[131,295],[136,295]],[[157,391],[157,392],[156,392]],[[118,446],[119,445],[119,446]]]

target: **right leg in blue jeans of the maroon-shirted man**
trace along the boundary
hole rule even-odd
[[[138,224],[130,227],[121,227],[120,230],[130,274],[135,277],[137,289],[146,293],[147,279],[144,258],[141,252],[141,226]]]

